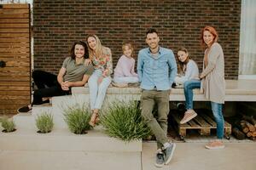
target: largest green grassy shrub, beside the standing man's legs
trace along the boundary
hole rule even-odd
[[[101,116],[101,123],[109,136],[127,142],[146,138],[150,134],[135,101],[128,104],[114,103],[108,113]]]

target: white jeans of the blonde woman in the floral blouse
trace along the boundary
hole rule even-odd
[[[104,77],[102,82],[98,85],[98,79],[102,77],[101,70],[95,70],[88,80],[90,91],[90,109],[101,109],[111,77]]]

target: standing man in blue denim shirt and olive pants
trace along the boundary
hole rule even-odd
[[[168,164],[176,144],[169,143],[167,133],[167,115],[169,113],[169,95],[172,82],[177,74],[177,64],[171,49],[159,46],[157,31],[149,29],[146,33],[148,48],[139,51],[137,72],[141,82],[142,116],[157,140],[156,167]],[[157,117],[152,111],[157,105]]]

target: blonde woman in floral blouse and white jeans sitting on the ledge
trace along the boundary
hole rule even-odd
[[[95,127],[99,121],[99,111],[105,98],[106,91],[111,83],[111,73],[113,72],[112,54],[110,48],[102,46],[100,39],[96,35],[89,35],[86,38],[89,46],[90,62],[95,71],[91,75],[88,84],[90,89],[90,126]]]

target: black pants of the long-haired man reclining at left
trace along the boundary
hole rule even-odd
[[[32,105],[43,104],[43,98],[71,94],[64,91],[57,81],[57,76],[46,71],[33,71],[32,78],[38,89],[34,91]]]

